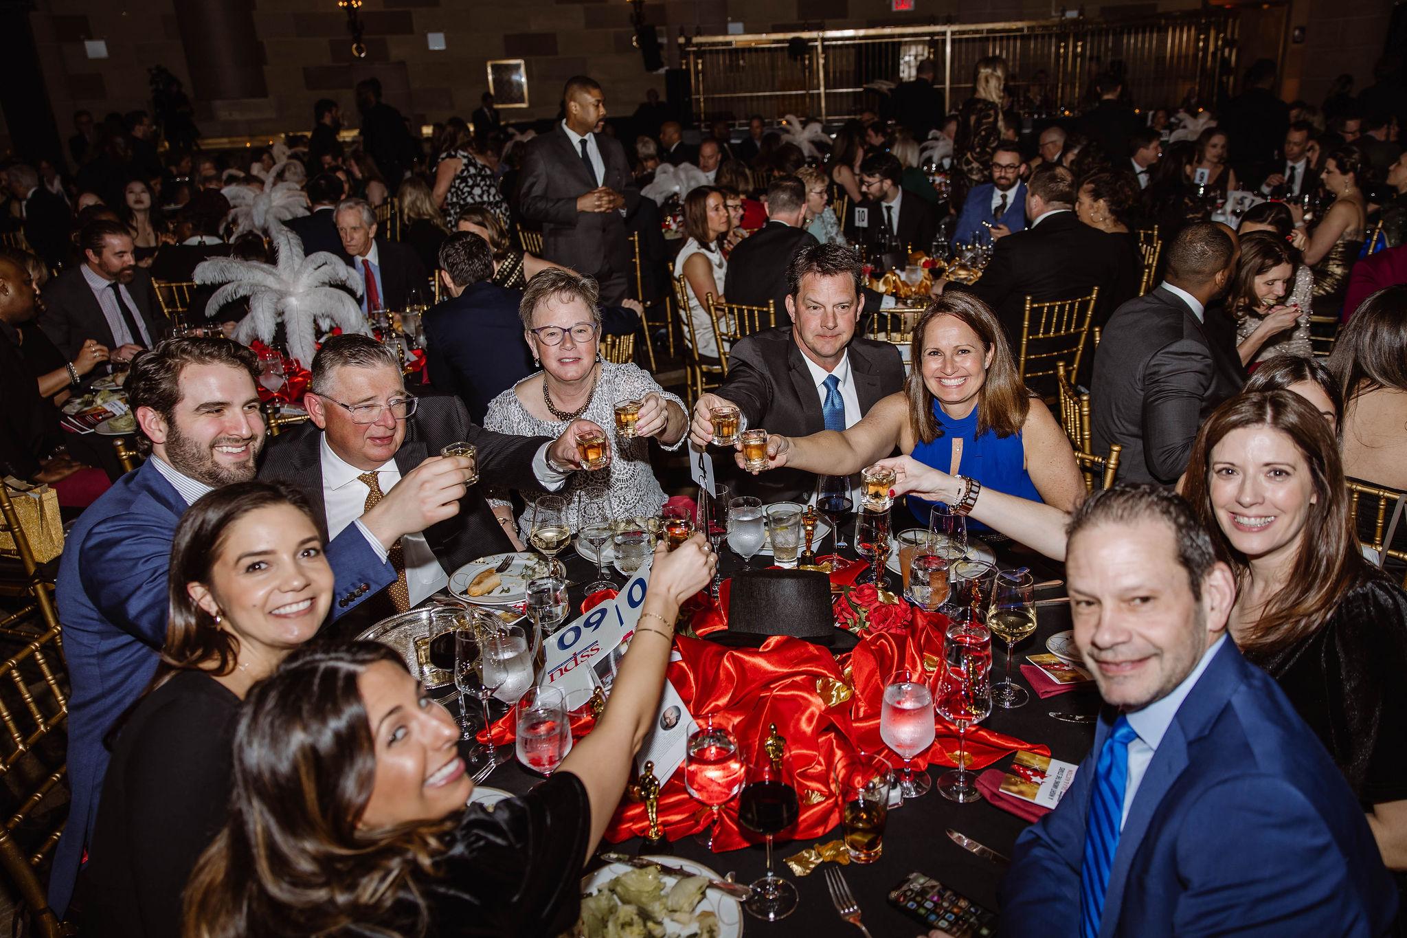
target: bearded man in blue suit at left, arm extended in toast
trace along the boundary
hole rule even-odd
[[[108,761],[103,738],[152,679],[166,641],[176,525],[205,492],[255,477],[265,437],[257,375],[255,353],[228,339],[167,339],[136,357],[127,392],[139,444],[151,456],[68,536],[58,599],[72,681],[72,802],[49,879],[49,904],[61,917],[97,814]],[[422,464],[328,544],[339,599],[333,615],[395,579],[387,551],[402,534],[459,512],[469,468],[461,458]]]

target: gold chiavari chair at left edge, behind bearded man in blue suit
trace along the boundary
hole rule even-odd
[[[23,643],[0,662],[0,785],[18,803],[0,827],[0,868],[27,908],[34,934],[58,938],[76,932],[49,908],[37,870],[63,831],[63,821],[56,817],[66,813],[66,806],[55,811],[53,804],[68,800],[65,747],[62,740],[53,744],[49,737],[59,735],[55,731],[62,733],[68,719],[68,675],[51,588],[38,574],[4,487],[0,487],[0,527],[14,539],[32,599],[0,620],[6,637]]]

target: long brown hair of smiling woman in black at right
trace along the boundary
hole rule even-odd
[[[1293,391],[1261,391],[1241,394],[1213,411],[1188,460],[1185,495],[1213,533],[1217,555],[1235,571],[1237,582],[1245,585],[1251,564],[1217,522],[1211,505],[1211,450],[1231,430],[1249,426],[1268,426],[1294,443],[1309,467],[1316,496],[1289,579],[1238,643],[1247,657],[1263,662],[1323,626],[1368,564],[1359,553],[1338,442],[1328,422]]]

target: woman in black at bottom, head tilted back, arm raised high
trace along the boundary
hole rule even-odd
[[[469,804],[459,727],[374,641],[291,655],[249,695],[229,820],[186,893],[187,938],[571,930],[581,872],[654,727],[680,603],[709,582],[702,534],[660,544],[611,699],[547,780]]]

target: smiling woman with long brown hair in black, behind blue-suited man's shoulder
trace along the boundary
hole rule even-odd
[[[1241,394],[1197,433],[1185,495],[1237,577],[1231,638],[1334,757],[1401,889],[1407,592],[1359,551],[1338,440],[1297,394]]]

